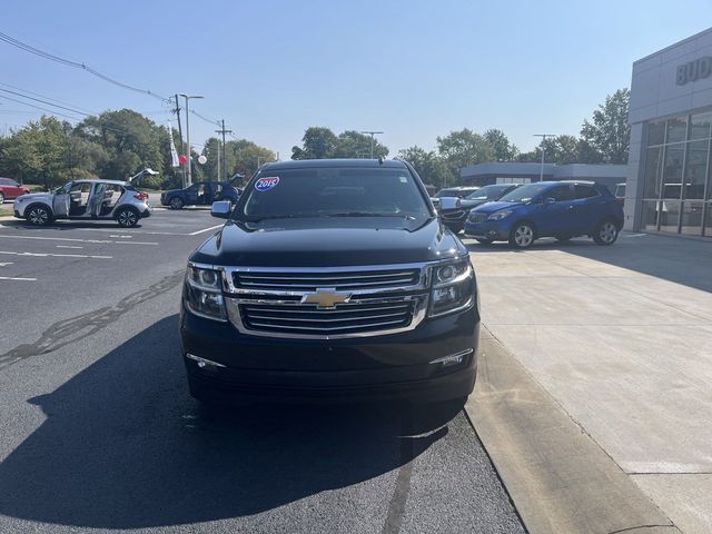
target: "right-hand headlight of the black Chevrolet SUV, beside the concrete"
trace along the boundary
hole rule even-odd
[[[431,317],[457,312],[474,301],[475,277],[469,259],[433,267]]]

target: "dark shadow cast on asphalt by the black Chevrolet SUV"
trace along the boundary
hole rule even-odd
[[[0,514],[95,528],[257,514],[396,469],[445,436],[456,415],[208,411],[188,396],[177,329],[177,316],[165,318],[30,400],[47,419],[0,464]],[[414,421],[431,432],[405,436]]]

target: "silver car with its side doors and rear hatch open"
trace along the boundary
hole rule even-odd
[[[12,208],[16,217],[36,226],[55,219],[115,219],[120,226],[131,227],[151,215],[148,195],[119,180],[68,181],[53,192],[22,195]]]

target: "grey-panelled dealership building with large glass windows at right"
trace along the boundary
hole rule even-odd
[[[633,63],[625,228],[712,237],[712,28]]]

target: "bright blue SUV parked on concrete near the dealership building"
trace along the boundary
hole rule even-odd
[[[558,240],[590,236],[612,245],[623,226],[623,210],[607,187],[593,181],[540,181],[474,208],[465,235],[479,243],[510,241],[527,248],[540,237]]]

